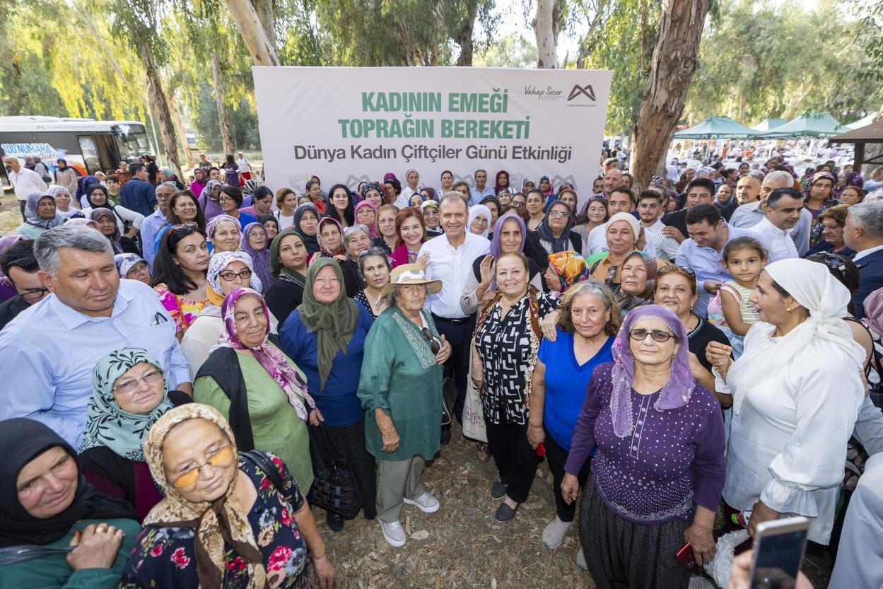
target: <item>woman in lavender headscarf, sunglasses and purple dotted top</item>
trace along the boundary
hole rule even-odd
[[[592,482],[580,538],[600,589],[685,589],[675,559],[689,542],[696,562],[714,555],[721,502],[724,427],[714,395],[693,380],[687,334],[662,306],[632,309],[598,366],[564,465],[562,497],[577,497],[577,474],[592,448]]]

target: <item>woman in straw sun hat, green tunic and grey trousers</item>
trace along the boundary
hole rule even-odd
[[[442,434],[442,364],[451,349],[423,308],[426,297],[441,290],[442,281],[426,280],[419,264],[396,267],[381,291],[389,308],[365,340],[358,398],[366,411],[366,446],[377,461],[377,517],[393,547],[404,546],[403,503],[424,513],[439,509],[420,476]]]

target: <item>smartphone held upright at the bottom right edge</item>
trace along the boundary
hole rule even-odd
[[[786,517],[758,525],[754,533],[751,589],[794,589],[804,562],[810,520]]]

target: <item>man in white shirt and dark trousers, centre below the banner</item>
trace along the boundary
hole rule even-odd
[[[466,230],[469,204],[464,194],[445,193],[439,203],[444,233],[420,247],[418,261],[428,256],[427,280],[441,280],[442,290],[426,299],[433,313],[435,327],[451,345],[451,355],[445,363],[445,373],[453,374],[457,388],[454,415],[463,422],[466,400],[466,379],[469,378],[469,354],[475,314],[467,315],[460,306],[466,279],[472,273],[472,262],[490,252],[490,242]],[[442,427],[442,442],[450,440],[450,426]]]

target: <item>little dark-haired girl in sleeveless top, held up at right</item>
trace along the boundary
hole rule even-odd
[[[755,238],[736,238],[723,248],[724,268],[733,275],[721,285],[721,309],[733,355],[742,355],[743,339],[751,325],[760,320],[751,291],[758,287],[760,271],[766,266],[766,249]]]

